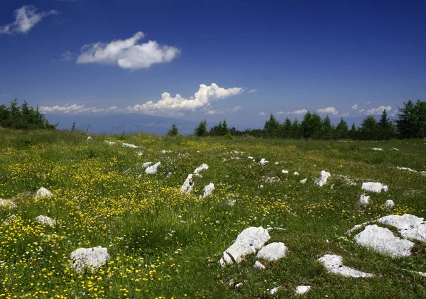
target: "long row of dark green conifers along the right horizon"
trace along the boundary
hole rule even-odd
[[[312,139],[354,139],[354,140],[388,140],[391,138],[425,138],[426,137],[426,102],[409,100],[398,107],[397,119],[388,118],[383,110],[381,119],[376,121],[372,115],[366,116],[360,126],[348,124],[340,119],[334,126],[329,116],[322,118],[316,112],[307,112],[302,121],[286,118],[282,123],[271,114],[265,121],[263,129],[246,129],[244,131],[229,129],[226,120],[207,130],[204,119],[195,128],[196,136],[254,136],[266,138],[312,138]]]

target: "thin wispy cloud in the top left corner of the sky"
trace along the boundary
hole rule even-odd
[[[13,23],[0,26],[0,34],[16,34],[27,33],[41,21],[45,16],[57,14],[58,11],[41,11],[37,12],[37,8],[32,5],[24,5],[20,9],[16,9],[13,13],[15,21]]]

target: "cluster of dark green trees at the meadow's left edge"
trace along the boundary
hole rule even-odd
[[[9,129],[56,129],[58,124],[49,124],[43,113],[30,107],[27,102],[21,106],[14,99],[9,107],[0,105],[0,126]]]

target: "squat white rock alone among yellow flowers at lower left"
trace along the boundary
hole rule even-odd
[[[92,272],[104,266],[109,260],[108,250],[105,247],[79,248],[71,253],[71,265],[77,273],[83,273],[89,267]]]

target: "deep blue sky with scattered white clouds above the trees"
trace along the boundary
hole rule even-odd
[[[48,118],[132,113],[255,127],[271,113],[351,119],[426,99],[424,1],[0,8],[0,104],[26,100]]]

